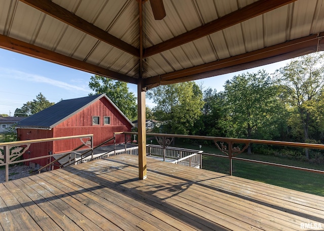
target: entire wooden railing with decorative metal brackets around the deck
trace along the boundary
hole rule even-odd
[[[132,136],[136,136],[136,132],[116,132],[114,133],[114,137],[110,138],[110,140],[114,140],[114,147],[116,147],[116,135],[124,135],[125,136],[125,149],[116,150],[114,148],[113,151],[109,153],[101,153],[94,155],[93,154],[93,135],[87,134],[87,135],[74,135],[74,136],[64,136],[64,137],[57,137],[57,138],[46,138],[46,139],[39,139],[39,140],[30,140],[30,141],[19,141],[19,142],[8,142],[8,143],[0,143],[0,166],[6,166],[6,181],[9,180],[9,165],[11,164],[17,164],[22,162],[28,162],[32,160],[38,160],[42,158],[53,158],[55,156],[68,156],[71,153],[75,152],[79,148],[81,148],[84,145],[87,145],[88,149],[83,149],[83,151],[92,152],[92,155],[89,157],[83,157],[80,159],[75,159],[75,163],[81,163],[86,162],[93,159],[98,158],[105,158],[112,155],[119,155],[121,153],[128,153],[131,155],[138,155],[138,147],[134,148],[127,148],[127,144],[131,143],[133,141]],[[64,152],[64,153],[58,153],[58,154],[52,154],[52,155],[44,155],[41,157],[34,157],[34,158],[28,158],[23,160],[18,160],[20,156],[22,156],[24,153],[27,152],[29,146],[33,143],[41,143],[41,142],[53,142],[57,140],[67,140],[72,138],[79,138],[82,141],[82,138],[90,138],[89,144],[82,144],[75,149]],[[158,145],[147,145],[147,154],[153,155],[153,156],[159,156],[163,158],[164,161],[166,159],[170,159],[171,162],[183,164],[186,166],[191,167],[197,167],[199,166],[201,168],[201,156],[202,155],[211,155],[211,156],[217,156],[221,158],[227,158],[229,159],[229,172],[232,174],[232,160],[241,160],[241,161],[248,161],[252,163],[259,163],[259,164],[266,164],[266,165],[273,165],[273,166],[279,166],[279,167],[286,167],[286,168],[292,168],[292,169],[298,169],[303,171],[310,171],[310,172],[316,172],[316,173],[324,173],[322,170],[315,170],[315,169],[308,169],[308,168],[301,168],[301,167],[295,167],[295,166],[289,166],[289,165],[283,165],[283,164],[277,164],[277,163],[270,163],[270,162],[264,162],[264,161],[257,161],[257,160],[250,160],[250,159],[244,159],[236,157],[236,155],[242,153],[244,150],[247,149],[247,147],[250,144],[262,144],[262,145],[275,145],[275,146],[288,146],[288,147],[298,147],[298,148],[307,148],[307,149],[320,149],[324,150],[324,145],[321,144],[306,144],[306,143],[294,143],[294,142],[280,142],[280,141],[264,141],[264,140],[252,140],[252,139],[241,139],[241,138],[227,138],[227,137],[214,137],[214,136],[196,136],[196,135],[176,135],[176,134],[161,134],[161,133],[147,133],[147,137],[150,139],[155,139],[155,141],[158,143]],[[213,141],[216,145],[216,147],[224,153],[224,155],[219,154],[210,154],[210,153],[204,153],[203,151],[198,150],[190,150],[190,149],[183,149],[183,148],[174,148],[169,147],[173,139],[175,137],[178,138],[186,138],[186,139],[194,139],[194,140],[204,140],[204,141]],[[106,143],[106,142],[104,142]],[[98,147],[98,146],[97,146]],[[53,161],[51,161],[50,164],[44,166],[43,168],[46,168],[48,166],[53,166],[54,162],[57,162],[59,159],[57,158]],[[71,162],[70,162],[71,163]],[[73,164],[75,164],[73,163]],[[43,168],[39,169],[42,170]]]

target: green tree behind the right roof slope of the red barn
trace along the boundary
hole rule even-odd
[[[106,94],[106,96],[123,112],[130,120],[137,118],[137,103],[134,93],[129,91],[126,82],[106,78],[104,76],[91,76],[89,87],[94,94]]]

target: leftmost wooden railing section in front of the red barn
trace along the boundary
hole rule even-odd
[[[33,158],[27,158],[20,160],[20,157],[24,153],[28,153],[29,147],[31,144],[35,143],[44,143],[44,142],[53,142],[53,141],[59,141],[59,140],[71,140],[78,138],[80,140],[80,146],[74,148],[73,150],[70,150],[68,152],[64,153],[58,153],[58,154],[46,154],[44,156],[38,156]],[[89,141],[86,143],[83,142],[84,138],[89,138]],[[9,181],[9,165],[11,164],[18,164],[23,162],[29,162],[33,160],[39,160],[44,158],[50,158],[53,159],[53,161],[50,161],[51,163],[42,167],[41,169],[38,169],[41,171],[45,167],[53,166],[55,162],[57,162],[59,159],[61,159],[64,156],[69,155],[70,153],[76,151],[79,148],[82,148],[83,146],[88,146],[89,148],[83,149],[83,151],[93,151],[93,134],[86,134],[86,135],[72,135],[72,136],[63,136],[63,137],[55,137],[55,138],[43,138],[43,139],[37,139],[37,140],[29,140],[29,141],[16,141],[16,142],[7,142],[7,143],[0,143],[0,166],[6,166],[6,181]],[[55,159],[54,157],[60,156],[60,158]]]

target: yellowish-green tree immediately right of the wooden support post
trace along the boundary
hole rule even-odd
[[[194,123],[204,106],[203,94],[194,82],[160,85],[147,92],[157,105],[154,116],[163,122],[162,131],[175,134],[192,134]]]

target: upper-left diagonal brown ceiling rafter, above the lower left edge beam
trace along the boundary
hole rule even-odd
[[[108,32],[94,26],[86,20],[72,14],[66,9],[60,7],[57,4],[49,0],[20,0],[21,2],[39,10],[43,13],[50,15],[61,22],[64,22],[80,31],[83,31],[103,42],[112,45],[124,52],[127,52],[133,56],[139,57],[139,50],[127,42],[109,34]]]

